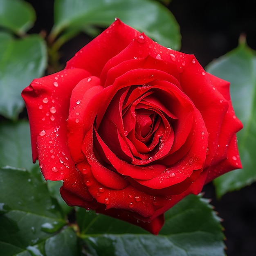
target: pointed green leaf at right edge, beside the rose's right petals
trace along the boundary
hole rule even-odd
[[[256,181],[256,56],[245,42],[213,61],[207,71],[230,81],[231,100],[244,128],[238,132],[238,149],[243,169],[214,180],[218,197]]]

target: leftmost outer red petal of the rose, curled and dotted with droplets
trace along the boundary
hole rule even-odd
[[[81,69],[63,70],[34,79],[22,91],[29,115],[33,162],[39,156],[46,180],[62,180],[69,173],[68,168],[74,168],[66,144],[66,119],[71,92],[88,75]]]

